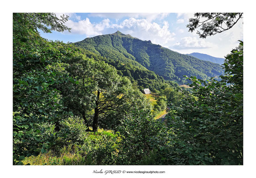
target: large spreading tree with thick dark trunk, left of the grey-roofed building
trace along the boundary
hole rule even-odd
[[[82,115],[88,127],[86,114],[90,117],[93,109],[93,132],[97,131],[100,116],[109,118],[111,113],[114,123],[116,113],[116,117],[120,117],[133,107],[145,109],[149,105],[126,77],[119,76],[117,70],[104,61],[77,57],[69,61],[66,70],[73,80],[60,86],[64,103],[73,113]]]

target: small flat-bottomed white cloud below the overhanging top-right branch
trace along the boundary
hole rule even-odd
[[[186,36],[172,46],[174,49],[206,49],[212,48],[214,44],[196,37]]]

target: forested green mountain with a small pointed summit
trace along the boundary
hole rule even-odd
[[[138,70],[147,69],[165,80],[185,83],[184,75],[206,79],[223,74],[223,69],[218,64],[180,54],[152,44],[150,40],[139,40],[119,31],[86,38],[74,44],[105,57],[106,62],[113,66],[121,64],[132,65]],[[136,78],[137,74],[134,75],[132,77]]]

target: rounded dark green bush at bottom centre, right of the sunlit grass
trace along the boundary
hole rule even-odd
[[[172,147],[168,144],[170,133],[162,122],[154,120],[147,112],[134,110],[122,119],[117,130],[122,135],[118,164],[167,164]]]

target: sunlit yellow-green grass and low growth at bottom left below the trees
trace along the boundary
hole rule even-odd
[[[22,162],[25,165],[105,165],[108,160],[118,158],[119,144],[122,140],[118,134],[120,133],[104,129],[86,132],[83,143],[67,141],[64,143],[66,146],[58,150],[26,157]]]

